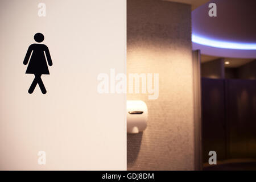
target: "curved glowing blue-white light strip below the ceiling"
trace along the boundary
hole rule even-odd
[[[221,40],[203,38],[193,34],[192,34],[192,42],[197,44],[202,44],[204,46],[217,47],[217,48],[256,50],[256,43],[225,42]]]

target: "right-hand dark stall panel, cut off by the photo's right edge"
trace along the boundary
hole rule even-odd
[[[256,80],[226,80],[229,158],[256,157]]]

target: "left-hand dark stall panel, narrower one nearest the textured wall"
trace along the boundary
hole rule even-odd
[[[226,158],[226,125],[224,80],[202,78],[202,143],[203,162],[209,151],[217,152],[217,159]]]

